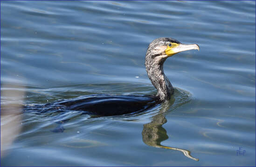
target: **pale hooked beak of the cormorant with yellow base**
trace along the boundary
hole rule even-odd
[[[188,51],[188,50],[192,50],[192,49],[196,49],[196,50],[200,50],[199,46],[197,44],[179,44],[176,47],[173,48],[167,48],[166,49],[166,55],[168,57],[173,56],[176,53],[179,53],[181,51]]]

